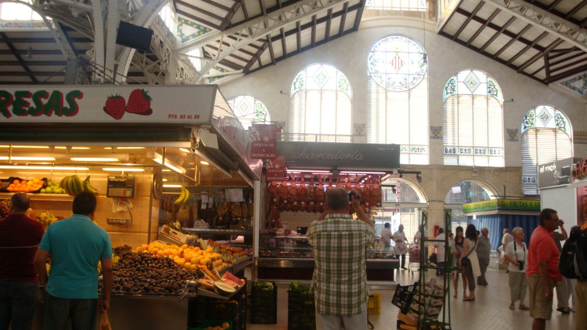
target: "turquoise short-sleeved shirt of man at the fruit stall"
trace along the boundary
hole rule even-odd
[[[48,294],[66,299],[98,298],[98,261],[112,258],[106,230],[85,215],[74,214],[47,228],[39,249],[51,254]]]

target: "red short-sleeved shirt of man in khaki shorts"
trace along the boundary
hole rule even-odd
[[[540,274],[538,270],[538,260],[548,262],[548,277],[554,281],[562,281],[561,272],[558,271],[559,252],[552,238],[552,232],[539,225],[530,237],[530,246],[528,247],[528,268],[526,268],[526,277],[532,274]]]

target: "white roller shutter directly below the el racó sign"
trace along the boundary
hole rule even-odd
[[[552,208],[558,218],[564,221],[567,234],[571,227],[577,225],[577,196],[576,188],[558,187],[541,190],[540,204],[542,208]]]

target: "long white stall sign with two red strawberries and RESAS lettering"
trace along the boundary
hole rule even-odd
[[[203,124],[227,109],[216,85],[0,87],[0,124]]]

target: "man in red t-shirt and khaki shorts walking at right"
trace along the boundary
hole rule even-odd
[[[538,215],[538,227],[532,232],[528,246],[528,291],[532,330],[544,330],[552,314],[552,289],[562,281],[558,271],[559,251],[552,237],[558,227],[558,214],[545,208]]]

